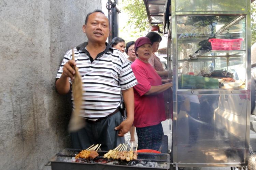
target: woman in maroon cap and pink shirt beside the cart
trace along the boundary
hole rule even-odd
[[[138,149],[159,150],[163,129],[161,121],[166,120],[163,91],[172,87],[171,80],[162,80],[148,59],[152,54],[152,43],[147,37],[136,40],[137,55],[132,71],[138,81],[134,86],[134,122],[138,135]]]

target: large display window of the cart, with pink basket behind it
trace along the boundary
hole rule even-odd
[[[178,88],[245,88],[245,34],[245,16],[177,16]]]

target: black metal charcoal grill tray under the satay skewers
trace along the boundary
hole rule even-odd
[[[151,161],[157,162],[158,164],[165,165],[163,167],[138,167],[138,166],[128,166],[128,165],[110,165],[102,163],[76,163],[76,162],[65,162],[65,159],[70,159],[78,154],[81,150],[78,149],[64,149],[61,152],[57,153],[51,159],[52,170],[120,170],[120,169],[143,169],[143,170],[152,170],[152,169],[169,169],[170,168],[170,155],[169,154],[155,154],[155,153],[138,153],[139,161]],[[99,158],[103,158],[103,155],[107,151],[98,151]],[[97,157],[97,158],[98,158]]]

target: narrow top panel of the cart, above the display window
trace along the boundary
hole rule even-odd
[[[175,0],[175,4],[176,12],[246,11],[246,0]]]

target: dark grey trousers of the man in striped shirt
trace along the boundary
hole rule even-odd
[[[86,122],[83,129],[71,133],[73,148],[87,149],[93,144],[102,144],[101,150],[108,151],[114,149],[120,143],[124,143],[124,137],[118,136],[118,131],[114,128],[123,121],[120,112],[102,119],[96,123]]]

